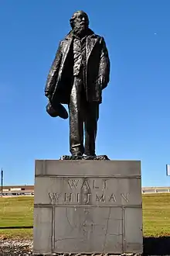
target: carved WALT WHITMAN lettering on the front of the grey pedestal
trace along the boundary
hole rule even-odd
[[[130,202],[128,192],[114,192],[113,179],[66,179],[62,191],[49,192],[53,205],[124,205]],[[57,188],[56,188],[57,191]]]

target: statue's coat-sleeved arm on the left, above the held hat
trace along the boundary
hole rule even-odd
[[[56,79],[59,73],[59,66],[61,64],[62,55],[62,42],[59,42],[59,47],[56,51],[56,56],[54,58],[53,64],[49,70],[49,74],[46,80],[45,95],[47,97],[53,94],[53,90],[56,85]]]

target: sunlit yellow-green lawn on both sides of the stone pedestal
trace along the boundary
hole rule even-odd
[[[33,225],[33,197],[0,198],[0,227]],[[170,237],[170,193],[143,195],[145,237]],[[1,237],[32,238],[32,229],[0,230]]]

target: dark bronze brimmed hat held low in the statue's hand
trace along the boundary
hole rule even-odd
[[[49,114],[49,116],[56,117],[59,116],[63,119],[68,118],[68,112],[64,108],[64,106],[60,103],[57,103],[54,105],[49,102],[46,106],[46,112]]]

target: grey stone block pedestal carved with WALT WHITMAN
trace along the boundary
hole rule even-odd
[[[34,253],[141,253],[140,161],[36,161]]]

